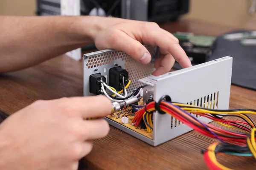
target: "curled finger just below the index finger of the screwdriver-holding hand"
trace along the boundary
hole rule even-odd
[[[81,128],[84,140],[104,138],[109,133],[108,122],[104,119],[87,120]]]

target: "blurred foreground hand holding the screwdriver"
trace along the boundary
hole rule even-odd
[[[37,101],[0,125],[1,170],[77,170],[93,139],[108,134],[103,119],[111,102],[103,96]]]

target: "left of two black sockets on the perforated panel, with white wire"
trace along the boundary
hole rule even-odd
[[[100,81],[107,82],[105,76],[102,76],[100,73],[90,75],[90,93],[99,95],[101,94],[101,83]],[[106,90],[106,87],[105,87]]]

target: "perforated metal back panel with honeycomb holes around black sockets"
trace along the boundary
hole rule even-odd
[[[132,93],[134,88],[143,85],[137,82],[137,79],[147,77],[154,71],[154,60],[159,57],[158,48],[146,46],[152,56],[150,64],[142,65],[135,61],[128,54],[116,50],[103,50],[89,54],[84,54],[84,96],[92,95],[89,93],[89,77],[91,74],[101,73],[108,79],[108,71],[110,68],[121,66],[129,73],[131,85],[128,87],[127,92]],[[107,80],[108,84],[108,80]]]

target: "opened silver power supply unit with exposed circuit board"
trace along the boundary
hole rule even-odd
[[[158,48],[146,48],[150,51],[153,61],[159,57]],[[114,89],[110,86],[113,77],[115,81],[111,85],[119,88],[118,85],[122,85],[123,81],[123,85],[128,86],[126,96],[134,94],[134,89],[143,87],[139,94],[136,94],[137,100],[131,98],[129,101],[123,101],[126,102],[124,106],[118,105],[116,111],[105,119],[113,127],[152,146],[157,146],[189,132],[192,128],[169,114],[160,114],[156,111],[152,116],[153,131],[148,133],[143,125],[134,127],[131,123],[134,116],[132,114],[140,109],[134,106],[145,105],[147,101],[158,101],[163,95],[169,95],[175,102],[203,108],[228,109],[232,60],[232,57],[222,57],[155,77],[151,75],[154,71],[154,62],[141,65],[122,51],[112,49],[96,51],[83,56],[84,96],[101,95],[102,91],[106,92],[105,87]],[[115,71],[111,71],[113,68]],[[100,83],[105,87],[100,88]],[[113,101],[113,105],[114,103],[116,102]],[[133,113],[128,114],[130,111]],[[131,117],[122,115],[131,115]],[[196,116],[196,119],[204,122],[212,121],[203,116]]]

